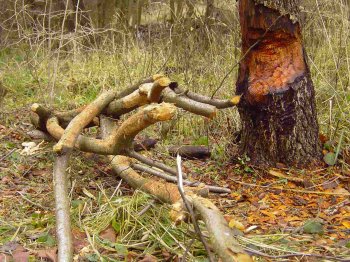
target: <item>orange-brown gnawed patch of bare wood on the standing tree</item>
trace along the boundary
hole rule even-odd
[[[251,51],[248,68],[250,100],[261,102],[267,94],[286,91],[305,72],[301,40],[284,32],[268,33]]]

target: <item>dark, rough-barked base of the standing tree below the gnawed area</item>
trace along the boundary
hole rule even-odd
[[[252,105],[243,99],[239,113],[240,151],[253,164],[302,167],[321,160],[314,89],[308,72],[284,93],[267,95],[262,104]]]

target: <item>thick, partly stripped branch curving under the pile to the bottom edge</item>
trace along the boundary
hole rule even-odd
[[[114,129],[113,123],[107,118],[101,119],[101,130],[103,137],[110,135]],[[153,179],[141,177],[132,167],[131,161],[125,156],[109,156],[113,171],[116,172],[123,180],[125,180],[134,189],[141,189],[163,202],[172,203],[181,208],[180,193],[177,187],[170,183],[160,183]],[[200,192],[200,191],[199,191]],[[189,200],[195,209],[200,213],[204,222],[213,235],[211,237],[212,245],[215,252],[223,261],[252,261],[241,246],[235,241],[232,230],[218,208],[208,199],[204,199],[196,194],[196,191],[188,189]],[[177,210],[177,213],[181,210]],[[177,218],[183,219],[182,214],[178,214]]]

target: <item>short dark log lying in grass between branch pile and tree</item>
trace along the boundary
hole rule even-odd
[[[179,154],[186,159],[205,159],[211,155],[207,146],[172,146],[168,151],[171,156]]]

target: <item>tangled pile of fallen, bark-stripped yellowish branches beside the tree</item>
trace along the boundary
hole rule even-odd
[[[69,190],[65,171],[73,149],[78,149],[105,155],[109,158],[113,171],[130,186],[172,204],[171,215],[174,220],[183,220],[189,213],[210,260],[214,261],[210,255],[213,250],[222,261],[251,261],[235,240],[219,209],[206,198],[209,192],[227,193],[229,189],[183,180],[186,174],[182,175],[179,159],[177,169],[174,169],[134,150],[134,139],[139,132],[157,122],[171,120],[178,108],[211,119],[218,109],[235,106],[239,100],[239,96],[220,100],[182,90],[176,82],[157,74],[122,92],[103,92],[92,103],[75,110],[60,112],[33,104],[33,125],[58,140],[53,147],[56,154],[53,177],[58,260],[72,261],[73,257]],[[130,113],[129,117],[118,125],[117,120],[126,113]],[[82,135],[84,129],[93,126],[100,127],[101,139]],[[165,181],[143,177],[137,171]],[[210,234],[210,245],[200,233],[195,213],[205,222]]]

